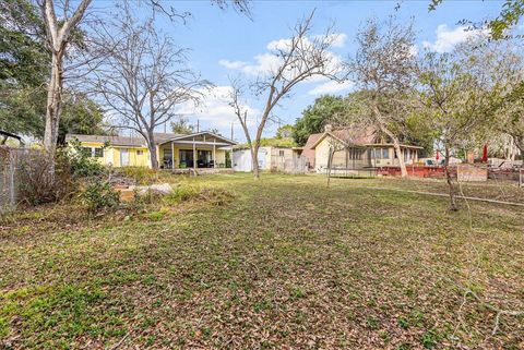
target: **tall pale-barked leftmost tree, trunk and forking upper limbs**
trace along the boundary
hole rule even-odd
[[[70,7],[70,1],[62,5],[61,16],[57,16],[53,0],[38,0],[41,17],[46,27],[46,37],[51,52],[51,74],[47,88],[46,131],[44,147],[52,158],[58,140],[58,124],[62,104],[63,59],[72,33],[78,28],[92,0],[82,0],[76,9]]]

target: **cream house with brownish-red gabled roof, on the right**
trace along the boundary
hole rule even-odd
[[[331,168],[335,170],[398,167],[401,158],[406,165],[418,161],[418,154],[424,147],[401,144],[402,156],[398,157],[393,144],[384,142],[377,134],[371,128],[365,130],[331,130],[326,128],[321,134],[310,135],[314,142],[311,143],[312,152],[308,155],[314,159],[309,159],[309,161],[314,165],[317,172],[326,171],[332,150],[334,153]]]

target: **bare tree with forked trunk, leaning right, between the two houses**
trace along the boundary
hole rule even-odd
[[[275,106],[283,98],[288,97],[297,84],[311,76],[340,80],[337,76],[340,68],[333,55],[329,51],[336,39],[336,35],[330,27],[323,35],[310,36],[313,14],[314,11],[308,17],[297,23],[291,38],[281,40],[271,48],[275,64],[269,72],[259,76],[254,83],[248,84],[248,87],[257,96],[265,95],[264,107],[257,124],[254,140],[249,132],[248,110],[241,102],[242,96],[247,92],[247,88],[245,88],[247,85],[242,85],[239,80],[231,83],[230,106],[242,125],[246,140],[251,149],[253,177],[255,180],[260,178],[258,159],[260,142],[264,128],[272,118]]]

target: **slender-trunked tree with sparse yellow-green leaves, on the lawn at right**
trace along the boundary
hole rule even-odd
[[[457,206],[450,157],[484,144],[500,123],[498,109],[519,74],[517,64],[511,49],[478,41],[461,45],[451,53],[428,52],[420,63],[421,120],[444,149],[451,210]]]

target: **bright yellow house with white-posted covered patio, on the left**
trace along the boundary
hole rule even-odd
[[[68,134],[67,142],[78,140],[84,152],[112,167],[151,167],[145,140],[128,136]],[[190,135],[155,133],[156,154],[163,169],[229,168],[236,143],[210,132]]]

